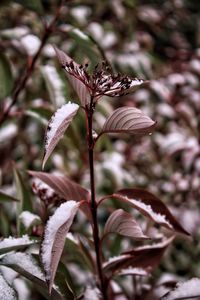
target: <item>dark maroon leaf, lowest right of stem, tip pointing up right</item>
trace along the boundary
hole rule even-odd
[[[161,243],[138,247],[124,252],[120,256],[113,257],[104,264],[103,272],[108,276],[112,276],[114,272],[130,266],[143,268],[150,272],[158,266],[165,250],[173,239],[174,237],[171,237]]]

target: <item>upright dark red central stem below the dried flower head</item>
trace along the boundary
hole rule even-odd
[[[100,239],[99,228],[97,220],[97,204],[95,195],[95,180],[94,180],[94,139],[92,134],[92,120],[93,120],[93,99],[91,98],[91,105],[87,111],[87,134],[88,134],[88,158],[90,168],[90,188],[91,188],[91,213],[93,219],[93,239],[96,252],[96,266],[101,287],[101,292],[104,300],[108,300],[106,292],[105,278],[102,271],[101,253],[100,253]]]

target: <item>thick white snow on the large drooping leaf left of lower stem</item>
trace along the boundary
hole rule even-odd
[[[76,213],[75,207],[78,208],[78,206],[79,203],[73,200],[62,203],[47,222],[44,241],[42,243],[42,261],[47,273],[47,278],[50,278],[51,254],[56,233],[58,229],[69,219],[73,221]]]

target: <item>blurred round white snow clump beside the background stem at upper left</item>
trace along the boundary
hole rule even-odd
[[[28,34],[21,38],[21,44],[27,54],[33,56],[39,50],[41,41],[36,35]]]

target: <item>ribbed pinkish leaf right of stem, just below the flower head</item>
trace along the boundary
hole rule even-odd
[[[103,125],[100,133],[146,134],[152,132],[156,123],[135,107],[116,109]]]

